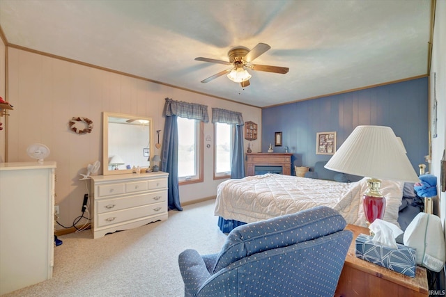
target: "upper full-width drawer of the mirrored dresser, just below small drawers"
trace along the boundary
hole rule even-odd
[[[96,201],[96,211],[98,212],[98,214],[103,214],[109,211],[117,211],[130,207],[139,207],[141,205],[164,201],[167,201],[167,191],[144,193],[141,195],[132,195],[122,198],[98,200]]]

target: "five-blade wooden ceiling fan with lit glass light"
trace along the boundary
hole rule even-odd
[[[286,74],[289,71],[288,67],[277,67],[269,65],[254,65],[251,64],[254,59],[258,58],[261,54],[264,54],[271,47],[266,43],[259,43],[253,49],[249,50],[246,47],[234,47],[228,52],[228,61],[215,60],[211,58],[198,57],[196,61],[218,63],[224,65],[231,65],[230,69],[223,70],[214,74],[212,77],[203,79],[201,83],[208,83],[217,77],[221,77],[223,74],[227,74],[227,77],[236,83],[240,83],[242,87],[249,86],[249,79],[252,77],[247,69],[255,71],[274,72],[279,74]]]

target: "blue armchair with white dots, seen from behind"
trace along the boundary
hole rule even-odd
[[[353,239],[315,207],[232,230],[218,254],[180,253],[185,296],[333,296]]]

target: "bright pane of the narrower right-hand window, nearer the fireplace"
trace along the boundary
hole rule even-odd
[[[231,175],[233,125],[215,122],[214,178]]]

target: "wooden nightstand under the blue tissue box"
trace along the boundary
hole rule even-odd
[[[429,296],[426,268],[417,266],[415,278],[410,278],[359,259],[355,255],[355,239],[361,233],[369,234],[369,229],[355,225],[347,225],[346,229],[353,232],[353,241],[348,248],[334,296]]]

